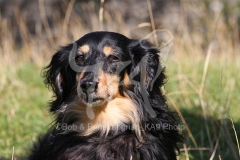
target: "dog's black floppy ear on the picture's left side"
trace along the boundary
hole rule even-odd
[[[69,54],[72,45],[62,47],[55,53],[50,64],[44,69],[45,84],[54,92],[50,102],[50,111],[57,111],[68,98],[75,86],[76,73],[69,66]]]

